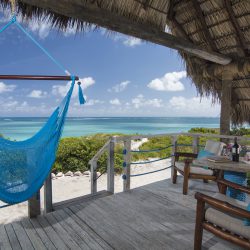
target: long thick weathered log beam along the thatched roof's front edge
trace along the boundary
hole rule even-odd
[[[148,24],[137,23],[125,16],[98,7],[96,1],[81,0],[21,0],[23,3],[43,8],[59,15],[72,17],[101,27],[134,36],[152,43],[180,50],[199,58],[227,65],[231,58],[216,52],[206,51],[193,43],[177,38]]]

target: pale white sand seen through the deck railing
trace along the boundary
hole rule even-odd
[[[155,163],[144,165],[133,165],[131,174],[139,174],[162,169],[170,166],[170,160],[163,160]],[[153,174],[131,177],[131,188],[136,188],[156,181],[170,178],[171,170],[156,172]],[[122,192],[123,182],[121,175],[115,176],[115,193]],[[74,176],[60,177],[52,181],[53,185],[53,202],[64,201],[67,199],[90,194],[90,177]],[[97,182],[98,191],[107,189],[107,175],[102,175]],[[43,190],[41,190],[41,203],[43,205]],[[2,208],[0,213],[0,223],[6,224],[23,217],[27,217],[27,202]]]

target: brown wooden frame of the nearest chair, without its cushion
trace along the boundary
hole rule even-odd
[[[218,180],[218,184],[222,187],[221,193],[225,193],[227,187],[232,187],[234,189],[240,190],[247,194],[250,194],[250,188],[243,187],[241,185],[232,183],[226,180]],[[227,240],[231,243],[234,243],[238,246],[241,246],[245,249],[250,249],[250,241],[240,235],[232,234],[230,231],[227,231],[219,226],[215,226],[213,223],[205,220],[205,210],[206,205],[210,207],[216,208],[217,210],[235,215],[242,219],[250,219],[250,212],[241,209],[239,207],[233,206],[228,202],[221,201],[215,199],[211,196],[202,194],[197,192],[195,194],[195,198],[197,199],[197,207],[196,207],[196,224],[195,224],[195,235],[194,235],[194,250],[200,250],[202,248],[202,236],[203,229],[213,233],[214,235]],[[243,222],[242,222],[243,223]]]

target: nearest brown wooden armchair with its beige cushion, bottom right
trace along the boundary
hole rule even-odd
[[[226,187],[232,187],[250,194],[250,188],[226,180],[219,180],[218,183],[222,186],[223,193]],[[243,219],[250,219],[250,211],[246,210],[246,202],[235,200],[221,193],[211,197],[197,192],[195,198],[197,199],[195,250],[200,250],[202,247],[203,229],[244,249],[250,249],[250,226],[243,224]]]

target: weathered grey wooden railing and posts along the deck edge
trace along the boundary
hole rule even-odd
[[[123,150],[123,190],[130,190],[130,167],[131,167],[131,142],[132,140],[138,140],[143,138],[154,138],[154,137],[171,137],[171,147],[172,153],[174,155],[177,148],[178,137],[186,135],[193,138],[192,140],[192,151],[193,153],[198,153],[199,151],[199,139],[200,137],[209,137],[209,138],[219,138],[233,140],[235,136],[227,135],[217,135],[217,134],[191,134],[191,133],[170,133],[170,134],[156,134],[156,135],[134,135],[134,136],[113,136],[111,137],[105,145],[95,154],[95,156],[90,160],[90,169],[91,169],[91,194],[97,192],[97,168],[98,160],[100,157],[107,152],[107,191],[114,193],[114,165],[115,165],[115,145],[116,143],[121,143],[124,145]],[[250,138],[237,136],[238,141],[250,141]],[[167,145],[166,145],[167,146]],[[173,156],[172,164],[173,165]],[[173,168],[171,169],[171,175],[173,175]],[[40,191],[37,192],[34,197],[29,201],[29,216],[35,217],[40,214]],[[53,202],[52,202],[52,181],[51,176],[49,175],[47,180],[44,183],[44,211],[45,213],[53,211]]]

